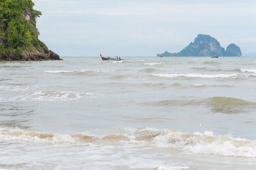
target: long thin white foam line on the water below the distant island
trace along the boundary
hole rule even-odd
[[[152,76],[166,77],[166,78],[235,78],[239,74],[152,74]]]

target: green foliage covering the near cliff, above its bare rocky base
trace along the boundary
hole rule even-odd
[[[0,0],[0,52],[18,54],[41,45],[36,18],[42,13],[33,10],[34,5],[31,0]]]

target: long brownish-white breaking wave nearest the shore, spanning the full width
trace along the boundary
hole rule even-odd
[[[0,128],[0,141],[17,143],[48,143],[70,145],[140,145],[154,148],[176,148],[182,152],[206,153],[232,157],[256,157],[256,141],[216,136],[213,132],[179,132],[173,129],[127,128],[122,134],[60,134]]]

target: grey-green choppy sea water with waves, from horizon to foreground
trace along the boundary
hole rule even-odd
[[[0,169],[256,169],[256,58],[0,62]]]

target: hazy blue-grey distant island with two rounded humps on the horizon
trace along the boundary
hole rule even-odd
[[[220,46],[220,42],[217,39],[212,38],[209,35],[198,34],[195,41],[186,46],[178,53],[158,53],[157,57],[211,57],[211,56],[223,56],[223,57],[241,57],[242,52],[239,46],[234,43],[227,46],[227,50]]]

